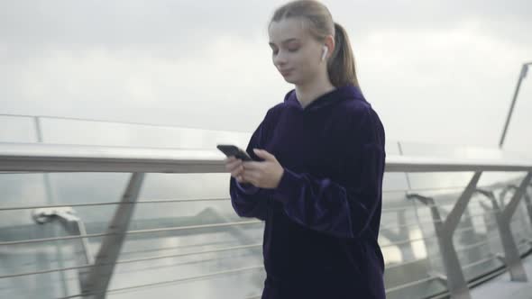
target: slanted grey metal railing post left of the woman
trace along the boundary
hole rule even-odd
[[[85,296],[94,299],[105,298],[109,281],[115,270],[116,260],[124,244],[124,232],[127,231],[136,206],[135,202],[141,191],[143,177],[143,173],[132,174],[122,196],[122,202],[116,207],[115,216],[105,232],[108,235],[102,240],[102,245],[96,255],[95,266],[88,270],[87,275],[82,276],[81,291],[82,294],[86,294]]]

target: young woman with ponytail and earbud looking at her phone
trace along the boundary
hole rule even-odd
[[[265,221],[262,299],[385,298],[384,129],[347,34],[325,5],[294,1],[275,11],[269,35],[295,89],[252,134],[255,161],[225,160],[234,211]]]

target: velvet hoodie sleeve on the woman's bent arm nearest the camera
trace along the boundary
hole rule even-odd
[[[360,114],[353,116],[358,121],[347,130],[353,140],[345,142],[348,150],[340,178],[333,181],[284,169],[272,198],[284,204],[293,221],[338,238],[357,238],[368,228],[381,206],[385,137],[371,108]]]

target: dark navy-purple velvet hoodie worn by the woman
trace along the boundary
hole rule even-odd
[[[280,185],[230,181],[234,211],[265,221],[262,299],[385,298],[377,242],[384,139],[356,86],[305,108],[292,90],[266,113],[246,151],[273,154],[284,168]]]

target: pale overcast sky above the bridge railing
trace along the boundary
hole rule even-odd
[[[0,0],[0,113],[253,131],[292,86],[267,24],[284,1]],[[325,1],[389,140],[496,146],[530,0]],[[509,149],[532,151],[532,70]]]

